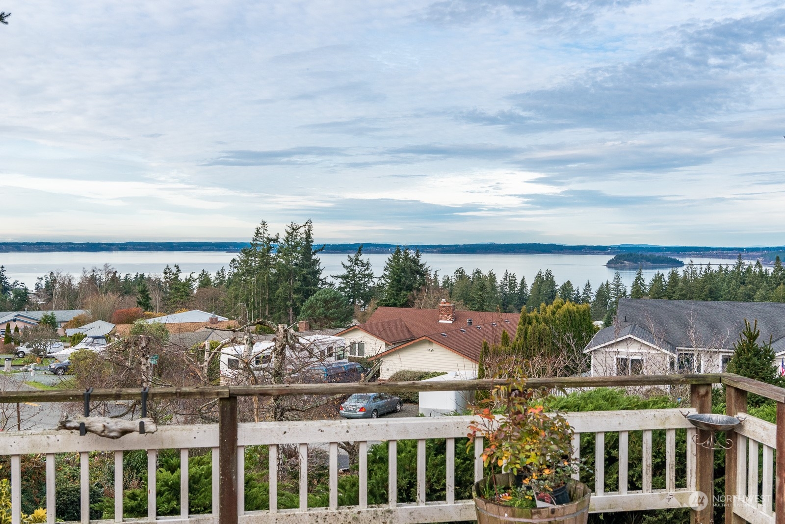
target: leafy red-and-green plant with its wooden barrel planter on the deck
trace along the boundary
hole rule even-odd
[[[477,521],[585,524],[591,492],[572,479],[586,470],[573,457],[573,430],[560,413],[546,413],[545,391],[513,375],[474,406],[478,419],[469,426],[469,442],[484,438],[482,459],[491,471],[474,485]]]

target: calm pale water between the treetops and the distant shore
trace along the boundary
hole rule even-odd
[[[157,273],[160,274],[166,264],[179,264],[184,273],[199,272],[206,269],[215,272],[222,266],[228,268],[229,260],[235,253],[204,253],[204,252],[107,252],[107,253],[0,253],[0,265],[5,265],[9,278],[24,282],[32,289],[36,279],[49,271],[64,271],[72,275],[81,275],[82,268],[102,267],[111,264],[120,273]],[[374,272],[381,275],[384,269],[386,254],[371,254]],[[324,267],[324,275],[338,275],[342,272],[341,262],[346,260],[345,254],[322,253],[319,255]],[[611,280],[615,270],[605,267],[608,255],[445,255],[425,254],[423,259],[439,275],[451,274],[458,267],[466,272],[478,267],[482,271],[495,271],[502,278],[505,270],[520,277],[525,276],[531,281],[540,269],[550,268],[558,283],[570,280],[573,285],[582,286],[590,280],[593,289],[605,280]],[[688,262],[684,259],[685,263]],[[696,264],[728,264],[732,259],[694,258]],[[644,270],[647,280],[652,278],[656,270]],[[667,271],[667,270],[660,270]],[[622,278],[629,287],[635,271],[621,271]]]

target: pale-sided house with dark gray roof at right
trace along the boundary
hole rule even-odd
[[[759,342],[771,338],[777,362],[785,358],[785,304],[775,302],[622,298],[584,352],[593,376],[721,373],[745,318],[758,321]]]

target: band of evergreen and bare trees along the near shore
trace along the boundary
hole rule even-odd
[[[771,269],[760,262],[685,265],[679,271],[658,271],[646,281],[639,267],[630,286],[617,271],[596,289],[567,280],[557,283],[550,269],[527,282],[511,271],[501,278],[494,271],[459,267],[452,275],[438,275],[422,260],[422,253],[398,246],[374,277],[363,246],[341,263],[339,275],[323,274],[319,260],[324,246],[313,238],[313,224],[287,225],[282,233],[262,221],[228,269],[215,273],[184,274],[177,264],[160,275],[121,275],[108,264],[83,270],[79,278],[51,271],[38,278],[34,289],[11,282],[0,266],[0,309],[73,309],[90,311],[91,319],[111,321],[115,311],[138,307],[155,314],[189,308],[216,311],[230,318],[265,318],[291,324],[309,319],[315,327],[345,326],[352,318],[367,320],[378,306],[436,307],[441,299],[469,311],[518,313],[538,310],[557,299],[589,304],[593,321],[609,325],[619,298],[672,300],[785,300],[785,271],[780,257]]]

